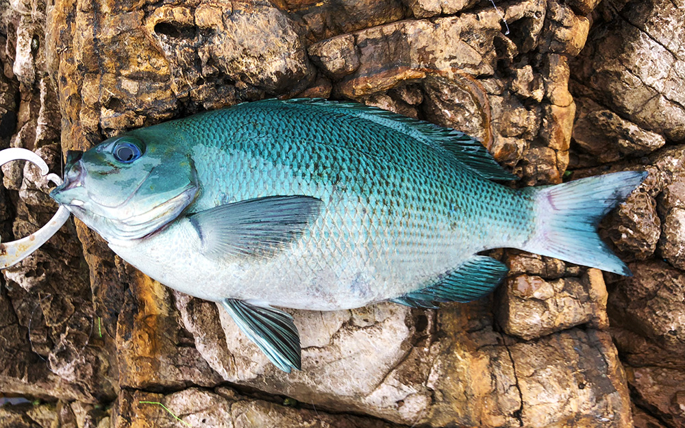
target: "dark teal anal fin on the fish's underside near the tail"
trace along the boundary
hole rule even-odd
[[[488,294],[502,281],[508,268],[492,257],[475,255],[435,284],[393,299],[411,307],[435,308],[438,302],[469,302]]]

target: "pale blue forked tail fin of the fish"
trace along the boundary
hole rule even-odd
[[[647,177],[626,171],[537,188],[535,233],[526,251],[620,275],[632,275],[625,263],[597,235],[597,224]]]

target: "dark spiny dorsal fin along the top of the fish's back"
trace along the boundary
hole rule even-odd
[[[336,109],[355,117],[366,118],[369,121],[390,127],[403,134],[412,136],[431,147],[442,148],[451,153],[462,165],[471,169],[478,175],[494,180],[517,180],[519,177],[502,168],[493,155],[487,151],[483,144],[475,138],[461,131],[440,127],[433,123],[419,121],[418,119],[401,116],[377,107],[371,107],[360,103],[347,101],[329,101],[322,98],[297,98],[297,99],[267,99],[257,101],[259,103],[281,104],[306,104],[321,105],[328,109]]]

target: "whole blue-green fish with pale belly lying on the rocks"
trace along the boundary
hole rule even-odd
[[[242,103],[67,155],[58,203],[171,288],[223,303],[279,368],[301,367],[276,307],[471,301],[511,247],[629,275],[599,220],[643,172],[514,190],[466,134],[356,103]]]

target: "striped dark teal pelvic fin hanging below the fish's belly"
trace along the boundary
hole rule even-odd
[[[290,314],[236,299],[225,299],[221,303],[245,336],[255,342],[275,366],[286,373],[292,368],[301,370],[299,333]]]

